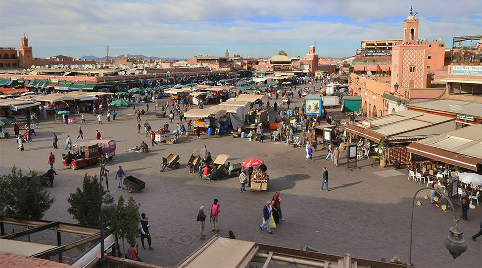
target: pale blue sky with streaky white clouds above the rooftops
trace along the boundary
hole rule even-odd
[[[482,1],[453,0],[1,0],[0,46],[20,46],[28,33],[34,55],[80,57],[144,54],[320,56],[355,53],[364,39],[401,38],[410,6],[419,38],[482,34]],[[22,10],[22,12],[19,12]]]

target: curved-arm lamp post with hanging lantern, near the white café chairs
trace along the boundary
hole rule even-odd
[[[410,218],[410,236],[409,236],[409,239],[408,239],[408,243],[409,243],[409,247],[408,247],[408,262],[407,262],[407,268],[411,268],[412,267],[412,225],[413,225],[413,209],[415,207],[415,197],[417,196],[417,194],[423,190],[434,190],[434,188],[428,188],[428,187],[424,187],[422,189],[419,189],[417,192],[415,192],[415,194],[413,195],[413,200],[412,200],[412,216]],[[445,248],[447,248],[448,252],[450,253],[450,255],[452,255],[452,257],[454,258],[457,258],[459,257],[462,253],[464,253],[466,250],[467,250],[467,242],[465,242],[465,239],[464,239],[464,233],[462,232],[462,230],[457,227],[457,223],[458,223],[458,219],[455,217],[455,210],[454,210],[454,206],[452,204],[452,201],[442,192],[438,192],[441,196],[443,196],[445,199],[447,199],[448,203],[450,204],[450,209],[452,210],[452,213],[453,213],[453,217],[454,217],[454,222],[455,222],[455,226],[454,227],[450,227],[449,229],[449,235],[447,237],[445,237],[445,240],[444,240],[444,244],[445,244]],[[426,199],[428,199],[429,197],[426,196]],[[419,204],[421,205],[421,204]],[[445,205],[442,205],[442,209],[443,206]]]

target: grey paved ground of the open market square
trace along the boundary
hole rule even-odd
[[[273,99],[271,104],[275,101]],[[281,102],[281,98],[278,102]],[[301,106],[297,97],[291,104],[292,107],[294,105]],[[152,109],[141,118],[157,129],[167,118],[156,118]],[[286,109],[286,106],[282,109]],[[122,108],[122,111],[127,114],[130,108]],[[339,108],[329,111],[337,114]],[[274,118],[272,109],[271,113],[270,118]],[[79,116],[70,116],[75,117],[79,119]],[[86,118],[87,125],[82,126],[85,141],[95,139],[98,129],[102,139],[114,139],[117,143],[116,155],[107,165],[111,170],[109,184],[112,194],[116,200],[120,195],[134,197],[141,203],[140,212],[146,213],[149,218],[154,251],[140,248],[139,254],[147,263],[173,267],[204,243],[205,240],[197,238],[199,226],[196,215],[199,206],[209,208],[214,198],[219,200],[221,206],[219,222],[223,236],[233,230],[237,239],[241,240],[297,249],[306,245],[323,253],[350,253],[354,258],[377,261],[382,258],[389,261],[394,256],[407,261],[411,199],[413,193],[425,185],[407,181],[405,169],[400,170],[404,175],[382,177],[373,172],[392,168],[381,168],[378,164],[372,164],[372,160],[363,160],[358,162],[358,169],[349,170],[345,164],[346,152],[341,153],[341,164],[337,167],[332,161],[325,160],[327,151],[322,146],[314,152],[313,161],[307,162],[304,147],[293,149],[283,142],[271,142],[269,138],[260,144],[230,135],[203,135],[200,140],[189,136],[181,137],[178,144],[162,143],[151,147],[150,137],[137,134],[134,116],[118,116],[111,122],[104,119],[103,125],[98,125],[91,114]],[[175,118],[174,123],[179,122],[179,117]],[[96,174],[99,168],[91,166],[71,170],[61,164],[61,154],[67,152],[63,149],[67,135],[71,136],[74,144],[77,142],[75,138],[79,120],[69,125],[55,123],[51,116],[47,121],[40,120],[37,136],[33,136],[33,142],[25,144],[24,152],[17,152],[17,144],[12,138],[0,141],[0,172],[8,173],[12,165],[21,168],[24,173],[28,172],[28,168],[45,172],[48,154],[53,151],[56,158],[54,166],[59,175],[54,187],[47,190],[56,201],[45,219],[76,223],[67,213],[67,197],[82,186],[85,172]],[[170,124],[171,130],[174,125]],[[59,138],[58,150],[52,150],[53,132]],[[12,129],[10,133],[13,133]],[[149,153],[125,152],[140,145],[141,141],[149,145]],[[240,193],[238,177],[198,181],[197,175],[188,173],[186,163],[193,151],[197,148],[197,154],[204,144],[213,157],[227,154],[231,163],[252,157],[266,161],[270,177],[268,191],[251,192],[247,188],[247,192]],[[161,157],[171,153],[180,155],[181,167],[159,172]],[[118,165],[123,166],[127,175],[144,180],[145,189],[129,194],[117,188],[114,177]],[[329,192],[320,191],[323,166],[329,172]],[[286,220],[272,230],[274,234],[268,234],[266,230],[261,232],[257,225],[262,222],[264,204],[271,200],[276,190],[281,191],[283,217]],[[420,194],[419,200],[423,205],[417,206],[414,213],[412,263],[418,267],[480,267],[482,239],[474,242],[470,236],[479,231],[481,207],[469,211],[468,221],[459,221],[468,249],[454,261],[443,245],[449,227],[454,225],[452,213],[444,213],[431,206],[430,201],[422,196]],[[456,207],[455,211],[459,217],[460,207]],[[210,230],[207,220],[207,237],[215,234]],[[176,241],[180,237],[181,242],[185,243]],[[190,241],[191,237],[193,241]]]

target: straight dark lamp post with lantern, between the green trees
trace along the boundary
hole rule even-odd
[[[114,197],[109,192],[109,182],[107,181],[107,172],[105,168],[105,163],[100,164],[100,200],[103,200],[100,206],[100,267],[107,267],[105,264],[104,256],[104,217],[105,215],[108,219],[112,218],[115,211],[117,210],[117,204],[114,201]],[[102,196],[102,180],[105,178],[105,184],[107,185],[107,194]]]

